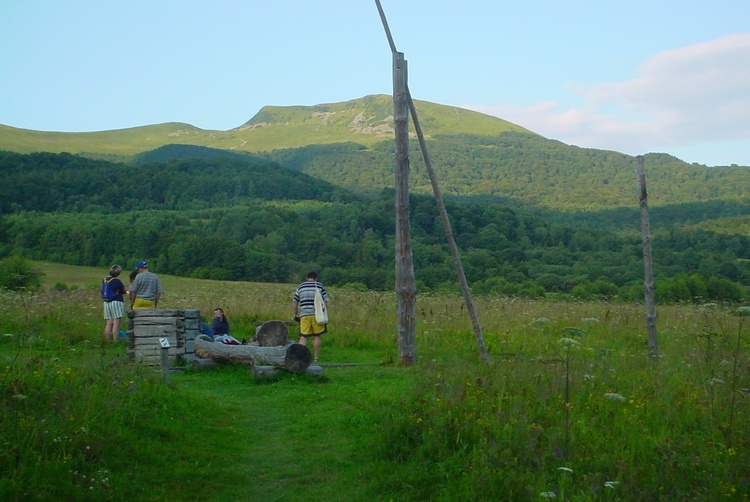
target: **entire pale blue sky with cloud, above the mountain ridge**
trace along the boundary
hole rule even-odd
[[[747,0],[381,4],[415,99],[582,147],[750,165]],[[227,130],[391,82],[374,0],[0,0],[13,127]]]

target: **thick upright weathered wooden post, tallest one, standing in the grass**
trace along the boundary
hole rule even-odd
[[[393,120],[396,134],[396,305],[399,364],[417,363],[415,340],[416,286],[409,234],[409,106],[407,65],[393,53]]]

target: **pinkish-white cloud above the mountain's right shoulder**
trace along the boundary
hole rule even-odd
[[[727,143],[750,151],[750,33],[656,54],[624,82],[531,106],[466,105],[543,136],[629,154]],[[748,154],[745,154],[747,158]],[[737,162],[740,162],[739,160]]]

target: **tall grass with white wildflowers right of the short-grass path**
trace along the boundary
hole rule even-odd
[[[654,365],[632,307],[520,303],[508,330],[489,335],[489,366],[456,350],[455,333],[425,334],[430,359],[405,413],[389,416],[381,452],[405,466],[400,490],[432,500],[749,496],[747,307],[660,309]]]

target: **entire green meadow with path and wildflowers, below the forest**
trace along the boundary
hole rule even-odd
[[[643,305],[477,297],[484,363],[463,299],[420,294],[400,367],[395,295],[331,288],[321,378],[167,382],[103,342],[106,270],[34,266],[0,292],[2,500],[750,498],[748,306],[657,306],[654,360]],[[238,338],[291,318],[295,284],[162,280]]]

